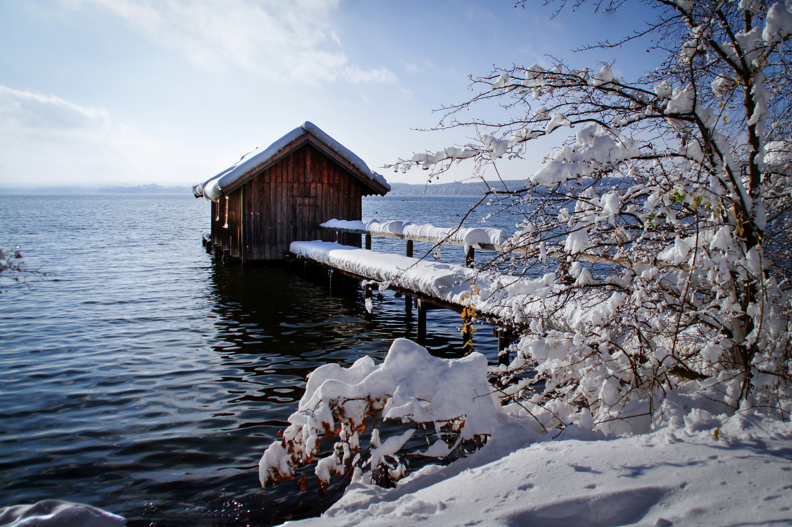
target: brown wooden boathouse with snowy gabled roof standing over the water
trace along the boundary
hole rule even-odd
[[[308,121],[192,187],[211,201],[207,243],[232,262],[283,260],[298,240],[336,241],[319,223],[361,220],[362,198],[389,190],[385,178]],[[360,235],[337,241],[360,247]]]

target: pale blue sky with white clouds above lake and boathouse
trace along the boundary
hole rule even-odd
[[[0,187],[192,185],[306,120],[388,181],[425,182],[381,167],[470,141],[470,129],[417,130],[472,97],[469,74],[552,55],[592,69],[615,60],[630,78],[662,58],[642,43],[571,51],[639,28],[645,6],[552,17],[558,4],[543,3],[0,0]],[[553,145],[501,176],[527,178]]]

